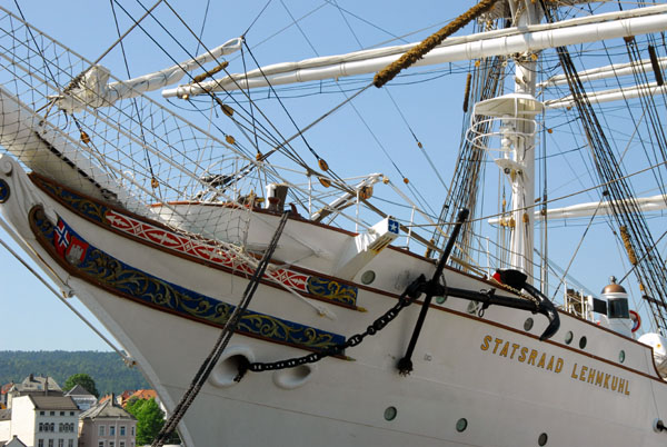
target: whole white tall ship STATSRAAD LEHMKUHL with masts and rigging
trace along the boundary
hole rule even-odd
[[[0,225],[153,445],[666,445],[667,3],[279,3],[113,0],[97,59],[0,8]]]

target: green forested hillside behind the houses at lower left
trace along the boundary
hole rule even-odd
[[[139,369],[128,368],[116,352],[0,351],[0,385],[22,381],[31,372],[51,376],[61,387],[69,376],[86,372],[94,380],[100,396],[149,388]]]

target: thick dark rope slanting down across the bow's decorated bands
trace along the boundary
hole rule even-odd
[[[255,291],[257,290],[257,287],[259,286],[259,280],[265,275],[265,271],[269,265],[269,260],[271,259],[273,251],[276,251],[276,248],[278,247],[278,239],[280,239],[280,235],[282,234],[282,230],[285,228],[285,225],[287,224],[288,218],[289,218],[289,212],[283,212],[282,218],[280,219],[280,222],[278,224],[278,228],[276,228],[276,232],[273,234],[273,237],[271,238],[271,241],[269,242],[269,246],[268,246],[267,250],[265,251],[265,254],[261,258],[261,261],[259,262],[259,266],[255,270],[255,274],[250,278],[250,282],[248,282],[248,286],[246,287],[243,297],[241,298],[241,302],[239,302],[239,305],[236,307],[236,309],[233,310],[233,312],[231,314],[231,316],[225,324],[225,327],[222,328],[222,332],[220,334],[218,341],[216,341],[213,349],[211,350],[209,356],[206,358],[203,364],[199,367],[199,370],[195,375],[195,378],[192,379],[190,387],[186,390],[181,400],[178,403],[178,405],[173,409],[173,413],[171,414],[171,416],[169,416],[169,419],[165,423],[165,426],[162,427],[162,429],[160,430],[160,433],[158,434],[156,439],[152,441],[151,447],[161,447],[162,445],[165,445],[165,441],[167,441],[167,439],[169,438],[171,433],[176,429],[178,423],[180,423],[180,420],[186,415],[186,411],[188,410],[190,405],[192,405],[192,401],[195,400],[195,398],[201,390],[201,387],[203,386],[203,384],[208,379],[209,375],[213,370],[213,367],[218,364],[220,356],[225,351],[225,348],[227,348],[227,345],[229,344],[231,336],[235,334],[235,331],[238,327],[241,316],[248,309],[248,305],[250,304],[250,300],[252,299],[252,296],[255,295]]]

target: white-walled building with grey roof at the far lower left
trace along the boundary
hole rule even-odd
[[[66,396],[14,397],[9,436],[32,447],[78,447],[79,413]]]

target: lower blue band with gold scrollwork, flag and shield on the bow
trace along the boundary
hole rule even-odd
[[[223,326],[235,306],[168,282],[96,248],[81,238],[62,219],[54,227],[41,207],[30,212],[30,224],[41,244],[69,270],[109,291],[132,300],[200,321]],[[325,350],[345,342],[345,337],[247,310],[238,332],[309,350]]]

